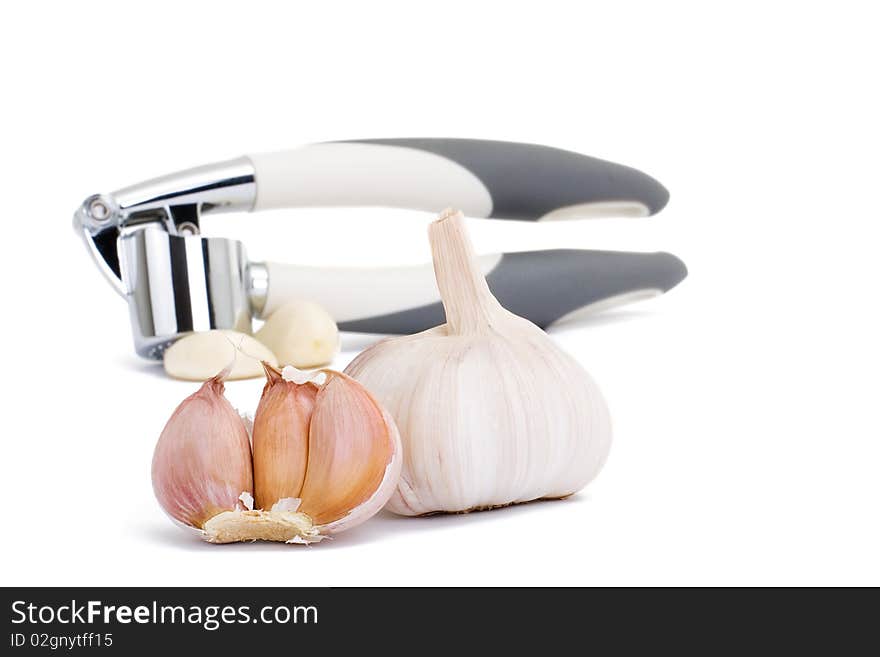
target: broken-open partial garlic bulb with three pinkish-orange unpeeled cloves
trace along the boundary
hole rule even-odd
[[[400,474],[391,416],[340,372],[318,372],[318,383],[293,368],[282,376],[264,367],[253,453],[223,396],[223,373],[168,420],[153,455],[162,508],[212,543],[311,543],[378,512]]]

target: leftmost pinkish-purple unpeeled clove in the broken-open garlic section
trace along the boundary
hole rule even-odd
[[[251,451],[241,417],[212,378],[187,397],[162,430],[153,453],[153,491],[174,520],[202,529],[239,508],[253,490]]]

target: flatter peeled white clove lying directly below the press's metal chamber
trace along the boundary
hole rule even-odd
[[[204,381],[232,363],[226,380],[253,379],[263,374],[260,361],[277,365],[265,345],[238,331],[200,331],[186,335],[165,350],[165,372],[175,379]]]

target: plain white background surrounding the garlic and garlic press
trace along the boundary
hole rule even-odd
[[[323,8],[316,8],[321,5]],[[880,584],[871,3],[6,3],[0,10],[5,585]],[[192,384],[137,359],[71,231],[88,194],[330,139],[459,136],[622,162],[658,216],[473,222],[479,250],[668,250],[670,294],[554,338],[610,460],[565,502],[380,515],[329,544],[211,546],[155,503]],[[418,262],[428,215],[205,222],[253,255]],[[347,336],[343,367],[369,342]],[[228,396],[253,408],[258,381]]]

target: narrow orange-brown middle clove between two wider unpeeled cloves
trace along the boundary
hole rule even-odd
[[[285,381],[264,363],[266,385],[254,416],[254,497],[258,509],[297,498],[306,476],[309,422],[318,386]]]

